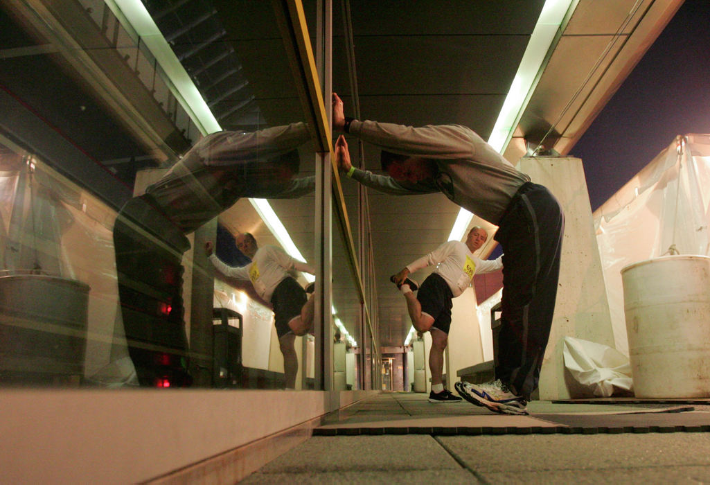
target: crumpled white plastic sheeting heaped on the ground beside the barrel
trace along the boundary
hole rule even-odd
[[[611,347],[582,339],[564,337],[564,366],[575,381],[594,396],[608,398],[633,391],[628,357]]]

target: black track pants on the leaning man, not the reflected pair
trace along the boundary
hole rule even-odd
[[[496,378],[528,399],[550,337],[563,233],[559,202],[532,182],[520,187],[496,233],[504,251]]]

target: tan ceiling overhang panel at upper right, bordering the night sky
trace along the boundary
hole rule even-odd
[[[515,162],[551,129],[545,148],[567,154],[681,4],[579,1],[503,156]]]

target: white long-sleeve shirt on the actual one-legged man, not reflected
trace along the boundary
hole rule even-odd
[[[434,273],[439,274],[451,288],[454,298],[471,286],[474,274],[490,273],[503,268],[503,256],[491,261],[477,258],[469,246],[461,241],[448,241],[426,256],[407,265],[410,273],[427,266],[437,265]]]

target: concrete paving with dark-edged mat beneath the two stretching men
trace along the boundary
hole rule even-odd
[[[710,400],[534,401],[508,416],[426,398],[383,393],[333,413],[242,483],[710,482]]]

